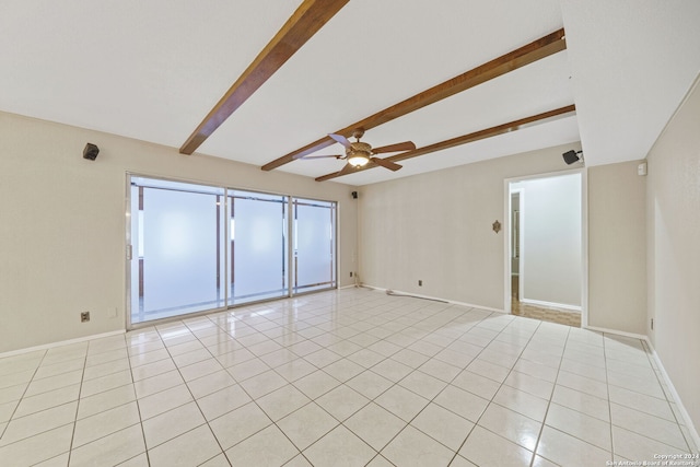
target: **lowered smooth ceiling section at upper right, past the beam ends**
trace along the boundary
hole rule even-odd
[[[700,1],[561,4],[586,163],[645,157],[700,72]]]

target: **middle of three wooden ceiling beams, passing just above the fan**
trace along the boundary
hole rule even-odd
[[[425,107],[427,105],[434,104],[445,97],[450,97],[460,93],[462,91],[466,91],[486,81],[492,80],[493,78],[498,78],[509,71],[516,70],[534,61],[549,57],[550,55],[564,50],[565,48],[567,40],[564,39],[564,30],[555,31],[545,37],[540,37],[539,39],[521,48],[502,55],[499,58],[488,61],[472,70],[440,83],[420,94],[416,94],[412,97],[401,101],[398,104],[385,108],[384,110],[380,110],[363,120],[357,121],[334,132],[349,138],[355,128],[369,130],[382,124],[386,124],[395,118]],[[306,144],[303,148],[265,164],[261,168],[264,171],[271,171],[299,157],[303,157],[304,155],[327,148],[332,143],[335,143],[335,141],[328,136],[325,136],[317,141]]]

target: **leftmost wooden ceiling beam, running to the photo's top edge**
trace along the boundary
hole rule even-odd
[[[179,149],[191,154],[350,0],[304,0]]]

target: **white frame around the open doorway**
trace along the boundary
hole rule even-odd
[[[511,262],[511,190],[510,186],[512,183],[523,182],[523,180],[532,180],[539,178],[550,178],[550,177],[559,177],[563,175],[572,175],[580,174],[581,175],[581,328],[588,327],[588,180],[587,180],[587,171],[585,167],[582,168],[573,168],[565,170],[559,172],[547,172],[544,174],[535,174],[535,175],[526,175],[520,177],[511,177],[503,179],[503,252],[504,252],[504,294],[503,294],[503,311],[508,314],[512,314],[511,306],[511,275],[512,275],[512,262]],[[522,201],[522,198],[521,198]],[[523,223],[521,222],[521,229],[523,229]],[[521,253],[523,252],[523,245],[521,244]],[[522,261],[522,255],[521,255]],[[522,269],[521,262],[521,269]]]

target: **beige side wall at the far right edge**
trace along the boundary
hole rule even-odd
[[[648,156],[651,340],[700,427],[700,80]]]

